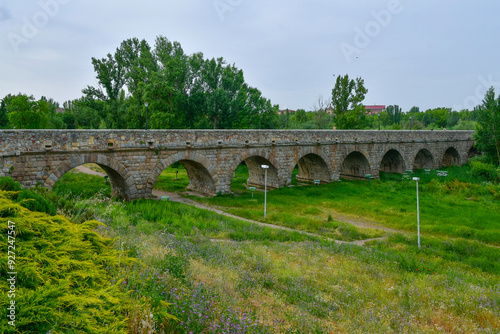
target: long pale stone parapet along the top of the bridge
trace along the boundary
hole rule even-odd
[[[244,148],[472,141],[473,131],[0,130],[0,155],[47,151]]]

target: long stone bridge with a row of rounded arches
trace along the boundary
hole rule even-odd
[[[180,162],[189,189],[229,193],[239,164],[249,185],[298,179],[331,182],[378,177],[380,171],[436,169],[462,165],[477,152],[473,131],[361,130],[0,130],[0,176],[25,187],[52,187],[61,176],[96,163],[109,176],[113,194],[126,200],[151,197],[158,176]]]

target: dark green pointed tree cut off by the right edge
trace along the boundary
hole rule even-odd
[[[476,147],[493,162],[500,162],[500,96],[495,98],[491,87],[479,108],[479,120],[475,133]]]

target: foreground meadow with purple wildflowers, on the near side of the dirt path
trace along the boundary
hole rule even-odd
[[[483,243],[425,236],[418,249],[415,236],[395,234],[367,247],[339,246],[180,203],[90,199],[79,207],[146,264],[128,269],[126,287],[134,298],[172,304],[180,322],[164,323],[166,332],[500,328],[500,249]]]

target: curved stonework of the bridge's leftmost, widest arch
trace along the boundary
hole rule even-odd
[[[72,155],[62,164],[57,166],[45,180],[45,186],[52,188],[56,182],[67,172],[78,166],[94,163],[101,167],[108,175],[111,183],[111,196],[120,197],[126,201],[132,199],[137,193],[134,178],[128,169],[119,161],[103,154]]]

